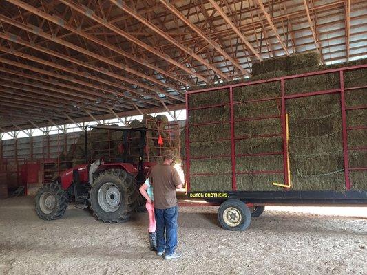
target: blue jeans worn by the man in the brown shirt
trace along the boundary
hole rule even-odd
[[[167,209],[156,208],[154,212],[157,225],[157,251],[165,250],[166,255],[171,255],[175,252],[177,246],[178,206]]]

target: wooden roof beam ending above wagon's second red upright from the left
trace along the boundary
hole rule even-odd
[[[111,1],[112,3],[117,5],[118,8],[120,8],[124,12],[127,12],[128,14],[130,14],[136,20],[138,20],[141,23],[143,23],[144,25],[146,25],[149,29],[156,32],[156,34],[159,34],[160,36],[165,38],[167,41],[174,44],[176,47],[178,47],[180,50],[182,50],[182,52],[185,52],[186,54],[189,54],[189,56],[192,56],[197,61],[199,61],[200,63],[205,65],[207,68],[213,70],[213,72],[218,74],[222,79],[229,80],[229,77],[226,74],[224,74],[222,71],[220,71],[220,69],[218,69],[218,68],[214,67],[213,65],[209,64],[204,58],[198,56],[198,54],[195,54],[195,52],[193,52],[193,50],[185,47],[184,45],[182,45],[182,43],[180,43],[179,41],[177,41],[173,37],[169,36],[169,34],[165,33],[163,30],[161,30],[156,25],[154,25],[154,23],[151,23],[150,21],[148,21],[147,19],[142,17],[140,14],[138,14],[138,12],[136,12],[136,11],[132,10],[131,8],[129,8],[123,1],[116,1],[116,0],[109,0],[109,1]]]

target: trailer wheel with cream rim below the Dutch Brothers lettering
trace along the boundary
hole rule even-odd
[[[228,199],[218,209],[218,220],[226,230],[244,231],[251,223],[251,212],[239,199]]]

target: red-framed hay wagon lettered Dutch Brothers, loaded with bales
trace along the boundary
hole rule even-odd
[[[270,204],[367,204],[367,65],[189,91],[186,104],[187,195],[220,204],[223,228]]]

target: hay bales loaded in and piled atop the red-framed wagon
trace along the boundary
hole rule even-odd
[[[319,66],[317,54],[301,54],[254,64],[255,76],[249,80],[269,79],[363,63],[367,62]],[[345,87],[367,85],[367,70],[346,72],[344,82]],[[286,95],[339,87],[339,72],[285,80]],[[234,120],[245,120],[235,122],[235,138],[243,138],[235,140],[235,154],[247,155],[238,156],[235,159],[238,190],[283,190],[281,187],[273,186],[273,182],[284,184],[283,155],[253,156],[253,154],[283,151],[282,136],[258,137],[282,133],[281,102],[279,99],[251,102],[251,100],[280,96],[280,81],[233,88],[234,102],[241,102],[233,107]],[[188,103],[189,108],[223,104],[220,107],[189,111],[190,158],[209,157],[191,159],[191,190],[231,190],[229,89],[191,94]],[[366,104],[367,89],[346,91],[346,107]],[[289,99],[286,100],[286,112],[289,113],[292,190],[345,190],[340,95],[326,94]],[[246,120],[260,117],[279,118]],[[216,121],[222,123],[207,126],[194,125]],[[347,111],[348,127],[366,126],[366,121],[366,109]],[[185,141],[184,135],[185,131],[182,131],[181,142]],[[366,148],[366,137],[366,129],[348,131],[348,148]],[[181,157],[185,159],[183,145],[184,143],[182,143]],[[216,157],[217,155],[227,155],[227,157]],[[367,167],[367,151],[349,151],[349,167]],[[281,173],[269,174],[257,171],[281,171]],[[350,181],[353,189],[366,190],[366,171],[350,171]]]

